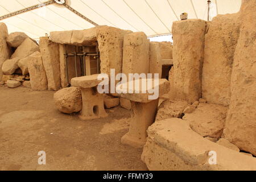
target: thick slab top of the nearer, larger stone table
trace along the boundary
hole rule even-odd
[[[127,100],[130,100],[130,101],[146,103],[153,100],[153,99],[150,100],[148,96],[154,95],[154,93],[148,93],[148,90],[150,89],[147,89],[147,84],[152,83],[152,90],[154,90],[156,86],[159,86],[159,89],[156,90],[158,91],[158,98],[170,91],[170,82],[168,80],[164,78],[160,78],[158,80],[159,80],[158,84],[154,85],[154,79],[150,79],[150,78],[139,79],[139,88],[137,89],[135,89],[135,86],[133,86],[133,88],[129,88],[129,84],[132,84],[132,82],[135,85],[135,80],[129,81],[124,84],[121,84],[116,90],[117,92],[121,92],[122,88],[127,87],[127,93],[119,93],[118,96],[122,98],[126,98]],[[146,88],[142,88],[142,83],[143,84],[146,83]],[[139,93],[135,93],[136,90],[139,91]]]

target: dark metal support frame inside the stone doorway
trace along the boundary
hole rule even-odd
[[[100,52],[98,51],[98,44],[96,46],[96,52],[87,52],[85,51],[86,49],[88,49],[89,47],[92,46],[73,46],[74,52],[67,52],[67,44],[65,44],[65,52],[64,52],[64,56],[65,56],[65,63],[66,63],[66,75],[67,75],[67,83],[68,86],[70,86],[69,83],[69,75],[68,75],[68,57],[74,57],[75,58],[75,72],[76,72],[76,77],[78,76],[86,76],[86,56],[94,56],[96,58],[97,61],[97,73],[100,73]],[[93,46],[94,47],[94,46]],[[80,65],[81,65],[81,75],[78,75],[77,72],[77,57],[79,57],[80,59]],[[90,64],[90,63],[89,63]]]

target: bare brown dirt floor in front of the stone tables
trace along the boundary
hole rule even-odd
[[[121,144],[130,111],[81,121],[55,109],[53,94],[0,86],[0,170],[147,170],[142,149]],[[46,165],[38,152],[46,152]]]

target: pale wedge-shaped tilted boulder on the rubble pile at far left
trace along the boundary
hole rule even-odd
[[[30,38],[27,38],[22,42],[22,44],[20,44],[18,48],[16,48],[13,55],[11,55],[11,59],[13,59],[14,57],[23,59],[36,51],[39,51],[38,45],[35,42],[33,42]]]

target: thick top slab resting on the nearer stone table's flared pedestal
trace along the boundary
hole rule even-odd
[[[138,88],[133,86],[132,88],[129,88],[129,85],[136,84],[135,82],[138,81]],[[156,82],[156,83],[154,83]],[[158,82],[158,83],[157,83]],[[147,85],[152,85],[151,89],[147,88]],[[144,86],[143,86],[144,85]],[[127,88],[126,92],[123,93],[123,89],[121,88]],[[159,98],[160,96],[163,96],[163,94],[166,94],[170,90],[170,82],[166,79],[138,79],[135,81],[129,81],[125,82],[120,85],[119,88],[116,89],[118,92],[118,96],[126,98],[130,101],[134,102],[151,102],[152,100],[155,100],[156,98]],[[154,93],[150,93],[149,90],[153,90]],[[156,97],[156,98],[155,98]]]

